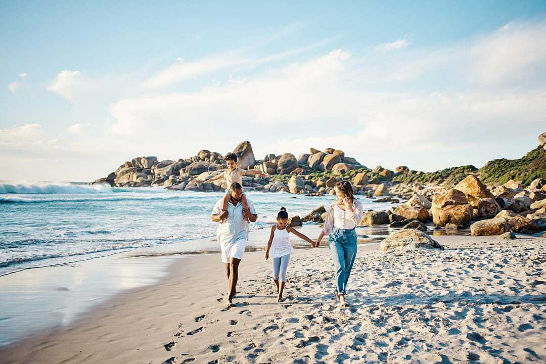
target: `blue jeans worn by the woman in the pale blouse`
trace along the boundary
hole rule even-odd
[[[334,226],[328,238],[328,249],[334,260],[336,292],[345,295],[347,281],[357,257],[357,232]]]

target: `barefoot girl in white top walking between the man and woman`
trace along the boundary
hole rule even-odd
[[[307,241],[314,247],[315,242],[310,238],[301,234],[301,232],[288,226],[288,213],[286,208],[281,207],[281,211],[277,213],[277,224],[271,226],[271,235],[269,236],[268,248],[265,250],[265,259],[273,258],[273,281],[277,287],[277,302],[282,301],[282,291],[286,282],[286,271],[290,254],[294,252],[292,244],[290,244],[289,232],[293,232],[296,236]]]

